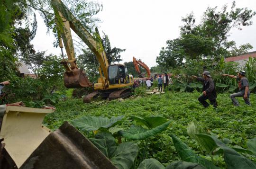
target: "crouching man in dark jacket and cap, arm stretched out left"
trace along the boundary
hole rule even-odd
[[[197,78],[198,81],[203,82],[203,95],[198,98],[198,101],[204,106],[204,107],[209,107],[209,104],[205,101],[209,99],[210,104],[213,105],[213,107],[217,107],[217,92],[214,86],[214,82],[211,79],[210,72],[209,71],[204,71],[203,72],[203,78],[197,77],[197,76],[192,76],[193,78]]]

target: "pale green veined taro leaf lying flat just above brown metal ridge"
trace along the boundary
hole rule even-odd
[[[95,130],[107,130],[122,122],[124,116],[112,116],[108,117],[94,117],[94,116],[82,116],[73,119],[71,123],[79,128],[81,131],[95,131]]]

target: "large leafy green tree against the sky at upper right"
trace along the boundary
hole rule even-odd
[[[210,58],[219,61],[221,57],[230,57],[246,53],[252,49],[250,44],[236,46],[234,41],[228,41],[231,29],[242,30],[242,27],[252,25],[251,19],[256,12],[247,8],[235,8],[235,1],[227,11],[227,5],[218,11],[217,7],[207,8],[201,23],[196,25],[193,13],[182,19],[180,37],[167,40],[166,48],[162,48],[156,62],[168,67],[179,67],[190,59],[200,61]]]

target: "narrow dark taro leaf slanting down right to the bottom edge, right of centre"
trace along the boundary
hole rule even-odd
[[[201,164],[202,166],[206,167],[207,169],[218,169],[210,161],[196,155],[185,143],[183,143],[181,140],[179,140],[173,133],[171,133],[171,137],[174,142],[174,147],[175,147],[176,151],[178,151],[182,160],[187,161],[187,162],[194,162],[194,163]]]

